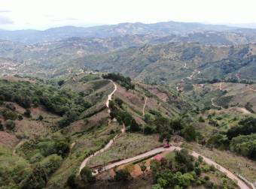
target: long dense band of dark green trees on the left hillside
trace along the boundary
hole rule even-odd
[[[44,83],[0,80],[0,91],[0,101],[16,102],[25,109],[41,105],[58,115],[65,115],[69,111],[81,113],[90,107],[78,93]]]

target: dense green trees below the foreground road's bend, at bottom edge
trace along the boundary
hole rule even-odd
[[[203,163],[202,157],[199,157],[198,160],[194,160],[194,157],[185,149],[176,151],[174,159],[166,159],[163,157],[160,161],[152,160],[151,169],[154,177],[154,185],[152,188],[155,189],[187,188],[200,185],[207,187],[214,185],[212,181],[210,181],[209,176],[206,175],[203,177],[202,173],[215,172],[215,167]],[[230,183],[227,182],[227,184]],[[218,187],[224,187],[224,184]],[[225,188],[233,188],[233,186],[229,185]]]

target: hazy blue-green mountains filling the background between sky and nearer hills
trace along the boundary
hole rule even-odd
[[[207,80],[237,74],[256,80],[254,43],[255,29],[200,23],[0,31],[0,74],[48,78],[89,68],[146,83],[173,83],[200,68],[198,77]]]

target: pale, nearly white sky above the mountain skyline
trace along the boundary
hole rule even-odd
[[[254,23],[254,0],[0,0],[0,28],[45,29],[169,20]]]

